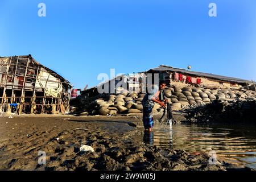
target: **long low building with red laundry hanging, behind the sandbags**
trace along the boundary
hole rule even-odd
[[[157,68],[152,68],[146,72],[131,73],[113,78],[104,83],[101,83],[100,88],[104,89],[108,86],[109,93],[114,93],[119,88],[119,83],[122,81],[122,88],[126,90],[134,90],[138,93],[142,92],[142,84],[146,85],[154,83],[155,80],[164,80],[167,86],[201,86],[206,88],[227,88],[227,89],[250,89],[254,88],[251,85],[252,81],[243,80],[241,78],[226,77],[214,75],[211,73],[194,72],[186,69],[174,68],[167,65],[160,65]],[[111,83],[112,82],[112,83]],[[81,94],[86,97],[96,96],[98,94],[97,86],[88,90],[82,91]]]

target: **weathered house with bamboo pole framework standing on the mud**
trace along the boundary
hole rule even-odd
[[[0,57],[0,109],[19,113],[65,113],[71,84],[31,55]]]

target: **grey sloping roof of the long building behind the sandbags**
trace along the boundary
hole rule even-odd
[[[251,82],[249,80],[243,80],[241,78],[233,78],[233,77],[227,77],[227,76],[221,76],[221,75],[214,75],[212,73],[202,73],[202,72],[194,72],[194,71],[188,71],[185,69],[180,69],[180,68],[173,68],[167,65],[160,65],[157,68],[152,68],[150,71],[171,71],[171,72],[177,72],[177,73],[186,73],[188,75],[195,75],[195,76],[200,76],[200,77],[207,77],[207,78],[213,78],[221,81],[232,81],[232,82],[237,82],[237,83],[244,83],[246,82]]]

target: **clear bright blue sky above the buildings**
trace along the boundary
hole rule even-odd
[[[1,0],[0,23],[0,56],[31,54],[76,88],[160,64],[256,80],[255,0]]]

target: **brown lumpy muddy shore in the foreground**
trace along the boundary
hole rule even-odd
[[[175,115],[176,121],[184,117]],[[24,115],[0,118],[1,170],[228,170],[208,154],[161,149],[148,143],[141,115],[75,117]],[[94,152],[81,152],[82,144]],[[39,165],[39,151],[46,164]]]

